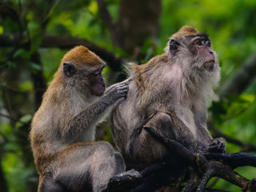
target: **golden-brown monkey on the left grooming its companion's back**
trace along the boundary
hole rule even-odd
[[[105,61],[87,47],[69,50],[31,123],[39,192],[104,191],[111,177],[139,178],[108,142],[94,142],[97,123],[127,96],[129,81],[105,91]]]

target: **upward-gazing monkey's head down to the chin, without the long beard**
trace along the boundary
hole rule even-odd
[[[165,47],[170,60],[189,64],[189,69],[201,72],[214,72],[219,68],[217,55],[212,50],[211,40],[205,33],[198,32],[192,26],[182,27],[170,37]]]

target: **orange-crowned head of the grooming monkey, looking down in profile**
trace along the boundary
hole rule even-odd
[[[105,62],[87,47],[78,46],[69,50],[61,60],[59,73],[68,85],[101,96],[105,91],[102,69]]]

